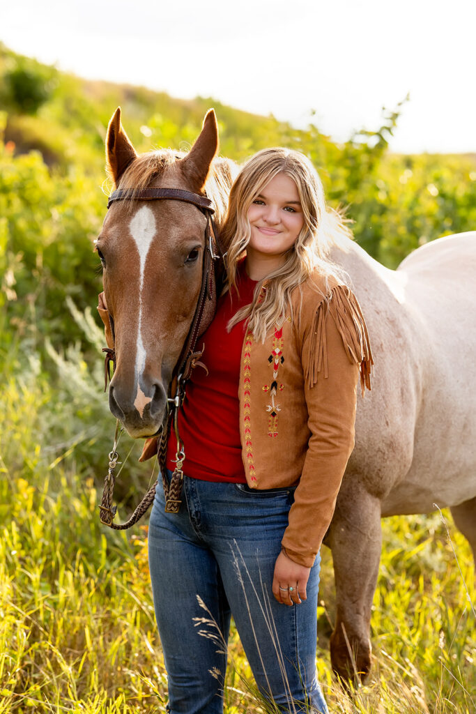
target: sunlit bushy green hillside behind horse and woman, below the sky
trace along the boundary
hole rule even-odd
[[[64,296],[90,304],[97,287],[91,240],[104,215],[106,126],[116,106],[138,151],[187,148],[214,106],[221,153],[236,161],[265,146],[304,151],[328,200],[345,206],[355,239],[396,267],[421,243],[476,225],[476,156],[397,156],[388,139],[400,111],[382,126],[335,144],[310,125],[236,111],[213,99],[173,99],[143,87],[84,81],[0,46],[0,270],[9,315],[26,329],[24,304],[51,338],[79,338],[64,319]],[[101,190],[102,189],[102,190]],[[16,294],[21,306],[9,299]]]

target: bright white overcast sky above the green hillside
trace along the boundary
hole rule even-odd
[[[314,110],[337,140],[409,93],[408,152],[476,152],[475,29],[476,0],[0,0],[21,54],[298,126]]]

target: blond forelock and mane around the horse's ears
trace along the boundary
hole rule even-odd
[[[117,188],[130,190],[133,201],[135,191],[141,191],[143,188],[151,186],[151,183],[163,174],[168,166],[184,159],[186,155],[183,151],[173,151],[172,149],[159,149],[141,154],[124,171]],[[218,158],[212,162],[211,171],[205,184],[205,192],[215,208],[214,218],[218,226],[221,226],[225,218],[228,194],[237,171],[238,166],[230,159]]]

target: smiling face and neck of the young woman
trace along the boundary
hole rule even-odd
[[[298,187],[292,178],[277,174],[248,208],[251,237],[247,252],[248,272],[258,263],[275,270],[285,262],[285,253],[293,247],[304,225]]]

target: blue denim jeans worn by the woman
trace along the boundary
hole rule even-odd
[[[271,590],[292,502],[293,488],[185,477],[179,513],[165,513],[158,485],[148,555],[171,714],[223,713],[231,614],[276,710],[328,713],[315,668],[319,555],[303,603],[281,605]]]

